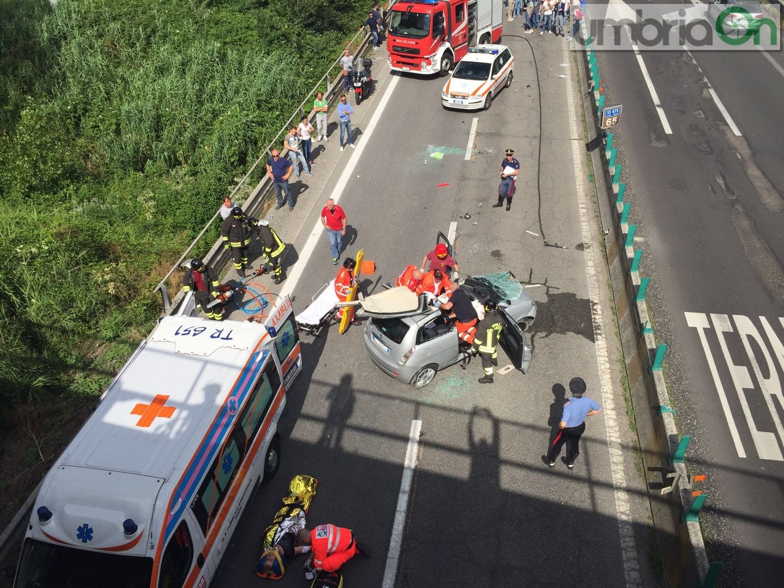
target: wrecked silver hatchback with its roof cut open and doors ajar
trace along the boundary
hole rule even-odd
[[[536,304],[511,272],[466,278],[460,285],[469,298],[482,306],[498,303],[504,328],[501,347],[512,365],[525,373],[531,365],[531,347],[524,331],[536,318]],[[381,370],[416,388],[425,387],[438,370],[465,358],[457,328],[447,314],[419,296],[416,310],[369,316],[365,325],[365,350]]]

